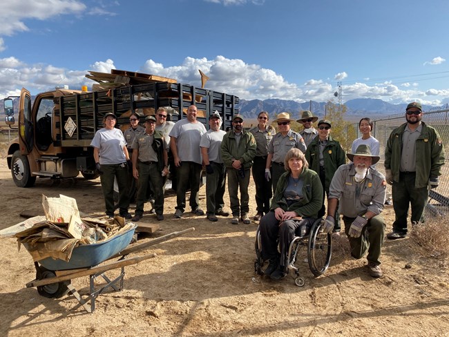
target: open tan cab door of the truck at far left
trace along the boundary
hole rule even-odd
[[[19,133],[21,144],[21,153],[23,155],[32,151],[34,145],[34,124],[32,121],[31,95],[28,90],[22,88],[19,104]]]

